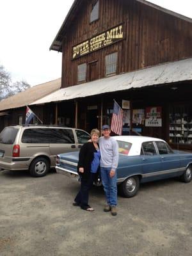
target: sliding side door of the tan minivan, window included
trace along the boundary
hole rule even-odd
[[[49,147],[51,161],[54,164],[57,154],[76,151],[74,133],[70,128],[51,128]]]

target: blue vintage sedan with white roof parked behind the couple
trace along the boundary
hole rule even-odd
[[[192,154],[172,150],[166,141],[145,136],[114,136],[119,146],[117,182],[125,197],[136,195],[140,183],[180,177],[192,179]],[[56,156],[56,172],[78,177],[79,152]]]

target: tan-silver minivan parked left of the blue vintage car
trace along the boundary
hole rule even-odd
[[[57,154],[79,150],[90,139],[81,129],[50,125],[14,125],[0,133],[0,168],[29,170],[42,177],[55,166]]]

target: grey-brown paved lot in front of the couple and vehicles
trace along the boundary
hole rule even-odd
[[[118,216],[102,211],[102,188],[91,191],[94,212],[72,206],[79,184],[54,171],[0,171],[0,188],[1,256],[192,255],[192,182],[143,184],[118,196]]]

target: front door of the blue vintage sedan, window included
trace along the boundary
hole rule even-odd
[[[161,171],[162,175],[169,175],[170,177],[177,175],[181,167],[181,161],[178,154],[164,141],[155,141],[159,156],[161,157]]]

